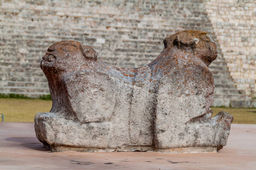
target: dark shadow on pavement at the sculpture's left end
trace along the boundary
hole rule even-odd
[[[19,142],[22,146],[30,148],[32,150],[49,152],[47,148],[43,147],[43,143],[39,142],[36,137],[9,137],[6,138],[5,140],[11,142]]]

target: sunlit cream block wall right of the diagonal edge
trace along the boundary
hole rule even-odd
[[[204,2],[234,83],[256,96],[256,1]]]

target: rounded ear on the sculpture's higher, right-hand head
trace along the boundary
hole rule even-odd
[[[196,48],[196,44],[199,39],[193,38],[186,32],[180,32],[179,35],[174,39],[174,45],[178,46],[178,48],[190,47]]]

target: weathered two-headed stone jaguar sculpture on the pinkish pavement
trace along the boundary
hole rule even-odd
[[[52,109],[35,116],[36,137],[52,151],[214,152],[233,116],[212,117],[216,44],[201,31],[164,39],[146,66],[106,65],[77,41],[51,45],[41,68]]]

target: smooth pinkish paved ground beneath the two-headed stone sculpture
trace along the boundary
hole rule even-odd
[[[232,124],[217,153],[50,152],[35,137],[34,123],[0,122],[0,169],[254,169],[256,125]]]

